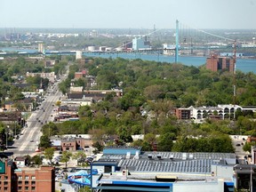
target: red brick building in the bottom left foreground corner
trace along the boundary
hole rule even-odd
[[[54,192],[55,173],[50,166],[17,168],[12,159],[0,160],[0,192]]]

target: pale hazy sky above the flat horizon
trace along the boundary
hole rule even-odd
[[[0,28],[256,28],[256,0],[0,0]]]

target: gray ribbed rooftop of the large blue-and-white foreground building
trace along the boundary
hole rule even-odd
[[[236,164],[231,153],[144,152],[139,157],[103,155],[100,160],[116,160],[117,166],[130,172],[193,172],[210,173],[212,164]]]

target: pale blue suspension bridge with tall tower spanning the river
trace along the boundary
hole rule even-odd
[[[141,38],[147,38],[147,36],[154,36],[158,32],[163,29],[154,29],[144,36],[140,36]],[[216,34],[213,32],[207,32],[203,29],[191,28],[188,25],[180,23],[180,21],[176,20],[176,28],[172,30],[171,36],[169,39],[169,43],[164,44],[162,47],[142,47],[138,49],[127,49],[127,44],[133,44],[133,40],[126,44],[122,44],[121,46],[111,49],[110,51],[83,51],[86,53],[95,53],[95,54],[118,54],[118,53],[134,53],[140,52],[141,54],[171,54],[175,55],[175,62],[178,62],[179,55],[196,55],[200,52],[199,56],[208,56],[210,52],[233,52],[236,46],[237,50],[244,51],[255,49],[255,37],[254,42],[240,42],[236,39],[237,36],[234,36],[232,33],[221,33],[217,32]],[[236,40],[236,41],[235,41]],[[236,42],[236,43],[235,43]],[[145,42],[144,42],[145,44]],[[133,46],[133,45],[132,45]],[[19,51],[19,52],[0,52],[1,55],[33,55],[33,54],[44,54],[44,55],[52,55],[52,54],[76,54],[76,51]]]

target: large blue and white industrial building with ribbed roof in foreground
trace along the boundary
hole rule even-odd
[[[234,191],[236,155],[142,152],[108,147],[91,164],[91,187],[100,191]],[[104,173],[100,173],[104,172]],[[236,180],[235,180],[236,181]]]

